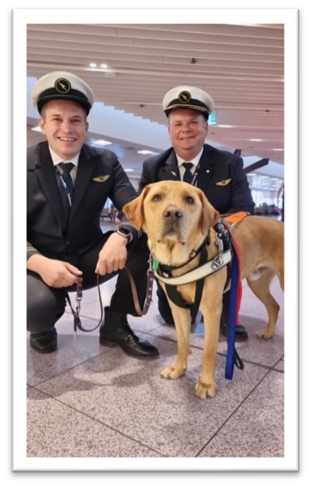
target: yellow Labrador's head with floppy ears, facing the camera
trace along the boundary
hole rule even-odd
[[[149,184],[123,212],[147,234],[149,248],[167,265],[184,263],[219,219],[203,191],[180,181]]]

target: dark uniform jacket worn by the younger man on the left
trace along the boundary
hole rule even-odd
[[[103,236],[100,214],[107,197],[120,210],[137,196],[116,155],[86,144],[78,159],[68,226],[47,142],[28,148],[27,185],[28,257],[38,252],[57,259],[82,255]]]

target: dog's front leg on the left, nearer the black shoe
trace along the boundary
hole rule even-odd
[[[175,364],[166,367],[161,372],[161,376],[166,379],[178,379],[186,374],[187,357],[191,353],[189,346],[191,313],[190,310],[184,310],[175,305],[171,305],[171,310],[177,334],[177,357]]]

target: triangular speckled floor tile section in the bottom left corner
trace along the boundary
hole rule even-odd
[[[28,457],[160,457],[131,440],[45,394],[28,391]]]

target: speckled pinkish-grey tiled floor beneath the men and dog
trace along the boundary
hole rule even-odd
[[[107,305],[115,281],[101,286]],[[28,457],[283,457],[284,333],[283,292],[272,340],[255,332],[266,310],[244,283],[240,321],[249,339],[237,343],[244,370],[224,378],[226,339],[219,338],[217,394],[199,400],[195,382],[202,357],[203,325],[192,329],[192,354],[186,376],[165,380],[160,371],[173,362],[175,329],[164,325],[156,300],[147,315],[129,317],[140,336],[158,347],[153,359],[131,358],[119,347],[100,345],[98,330],[78,331],[72,313],[56,325],[58,349],[41,355],[28,344]],[[73,295],[73,299],[74,299]],[[96,290],[83,293],[82,323],[100,316]]]

